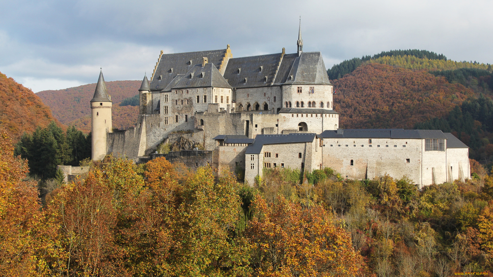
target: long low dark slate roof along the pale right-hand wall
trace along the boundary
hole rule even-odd
[[[340,134],[338,134],[338,131]],[[440,130],[339,129],[325,130],[319,138],[447,138]]]

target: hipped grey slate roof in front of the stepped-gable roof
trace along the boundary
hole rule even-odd
[[[173,86],[173,89],[200,87],[232,88],[214,64],[209,63],[205,64],[204,67],[202,65],[191,67]]]

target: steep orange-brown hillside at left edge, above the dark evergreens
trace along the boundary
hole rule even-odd
[[[30,89],[0,72],[0,127],[16,142],[24,132],[46,127],[55,120],[48,106]],[[61,125],[57,121],[58,125]],[[64,127],[65,128],[65,127]]]

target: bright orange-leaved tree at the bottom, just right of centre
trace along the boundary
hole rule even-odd
[[[252,266],[262,277],[356,276],[361,256],[351,236],[336,227],[319,205],[302,207],[278,197],[267,204],[257,195],[256,216],[249,222]]]

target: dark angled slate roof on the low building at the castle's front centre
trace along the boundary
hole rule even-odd
[[[287,135],[257,135],[252,144],[246,147],[245,154],[260,154],[265,144],[313,142],[315,133],[295,133]]]

